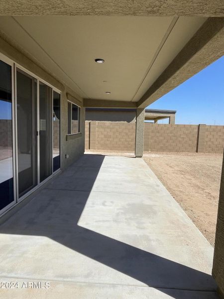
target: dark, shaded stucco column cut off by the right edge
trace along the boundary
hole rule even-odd
[[[216,226],[216,242],[213,260],[213,277],[218,285],[218,292],[224,298],[224,159],[220,185],[220,201]]]

